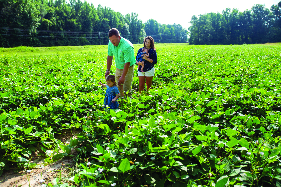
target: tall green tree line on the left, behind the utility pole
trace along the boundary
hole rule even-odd
[[[133,44],[147,35],[160,43],[187,41],[181,25],[143,23],[137,13],[121,15],[82,0],[0,0],[0,47],[106,45],[110,28]]]

